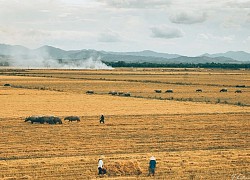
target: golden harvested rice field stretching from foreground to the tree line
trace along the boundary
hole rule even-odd
[[[249,70],[0,69],[0,179],[248,179],[249,92]],[[24,122],[31,115],[81,121]]]

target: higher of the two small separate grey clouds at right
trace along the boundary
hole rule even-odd
[[[178,12],[169,17],[172,23],[176,24],[196,24],[206,21],[206,13],[199,12]]]

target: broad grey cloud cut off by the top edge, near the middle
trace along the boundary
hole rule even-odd
[[[170,0],[99,0],[116,8],[159,8],[169,6]]]

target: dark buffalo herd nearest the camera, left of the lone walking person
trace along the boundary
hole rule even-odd
[[[64,120],[68,120],[69,122],[72,121],[80,121],[80,118],[78,116],[67,116],[64,118]],[[40,123],[40,124],[62,124],[61,118],[57,116],[29,116],[25,118],[24,122],[30,121],[31,124],[33,123]]]

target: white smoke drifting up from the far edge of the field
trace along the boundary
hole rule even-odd
[[[12,52],[10,66],[17,68],[48,68],[48,69],[113,69],[103,63],[100,57],[90,56],[86,59],[51,58],[46,51]]]

